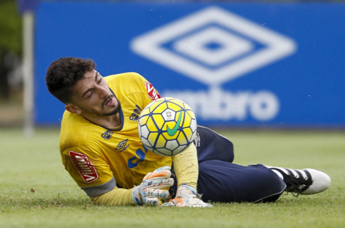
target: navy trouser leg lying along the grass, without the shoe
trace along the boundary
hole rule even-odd
[[[219,160],[199,163],[198,193],[204,201],[271,202],[285,188],[284,181],[261,164],[242,166]]]

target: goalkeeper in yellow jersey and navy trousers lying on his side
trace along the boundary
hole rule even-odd
[[[65,57],[52,62],[46,82],[65,103],[62,163],[95,204],[273,202],[284,190],[315,194],[330,185],[328,175],[315,169],[235,164],[232,142],[201,126],[194,144],[180,154],[147,151],[138,137],[138,116],[160,95],[137,73],[102,77],[92,60]]]

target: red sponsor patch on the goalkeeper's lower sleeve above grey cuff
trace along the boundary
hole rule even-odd
[[[69,151],[69,157],[72,159],[74,167],[78,170],[80,176],[86,183],[90,183],[98,179],[98,173],[95,166],[88,161],[85,154]]]

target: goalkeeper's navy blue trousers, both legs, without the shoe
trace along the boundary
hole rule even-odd
[[[198,126],[195,146],[199,162],[197,188],[204,201],[272,202],[286,188],[282,179],[261,164],[242,166],[232,163],[232,142],[213,130]],[[172,195],[176,185],[175,179]]]

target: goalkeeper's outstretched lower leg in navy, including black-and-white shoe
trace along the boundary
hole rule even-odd
[[[242,166],[219,160],[199,163],[198,192],[218,202],[273,202],[282,192],[309,195],[325,191],[331,180],[315,169],[261,164]]]

